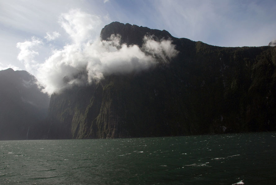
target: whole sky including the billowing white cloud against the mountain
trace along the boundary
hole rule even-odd
[[[275,40],[275,17],[275,0],[0,0],[0,70],[27,70],[53,93],[62,83],[56,79],[84,68],[91,81],[114,72],[111,68],[122,72],[118,69],[126,63],[124,71],[154,65],[139,48],[116,50],[118,37],[109,43],[99,40],[101,29],[113,21],[165,29],[174,37],[211,45],[243,47]],[[169,57],[176,54],[171,43],[153,42],[145,39],[144,50],[169,48]],[[124,58],[118,57],[122,53]]]

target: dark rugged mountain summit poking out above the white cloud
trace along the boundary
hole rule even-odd
[[[166,30],[149,29],[148,27],[112,22],[106,25],[100,33],[103,40],[107,40],[112,34],[121,35],[121,42],[127,45],[136,44],[142,46],[145,35],[154,35],[156,39],[173,38]]]

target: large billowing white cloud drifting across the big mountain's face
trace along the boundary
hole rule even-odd
[[[18,59],[37,76],[48,94],[74,84],[86,85],[109,74],[145,70],[157,62],[168,62],[178,53],[171,40],[156,41],[150,36],[144,38],[141,48],[121,44],[120,35],[111,35],[107,41],[101,40],[96,36],[100,33],[101,18],[80,10],[61,14],[59,22],[72,42],[62,49],[53,50],[43,63],[34,60],[38,55],[35,47],[45,44],[42,39],[33,37],[17,43],[20,48]]]

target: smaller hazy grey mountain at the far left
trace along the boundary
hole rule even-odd
[[[50,98],[27,71],[0,71],[0,140],[42,138]]]

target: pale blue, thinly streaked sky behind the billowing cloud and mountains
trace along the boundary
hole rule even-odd
[[[105,25],[119,21],[217,46],[264,46],[276,39],[275,0],[9,0],[0,1],[0,69],[28,70],[19,59],[23,46],[17,43],[41,39],[28,50],[33,64],[44,63],[53,51],[71,44],[73,37],[61,26],[60,17],[72,10],[97,19],[93,31],[86,32],[94,38]],[[57,37],[48,41],[47,33],[54,32]]]

